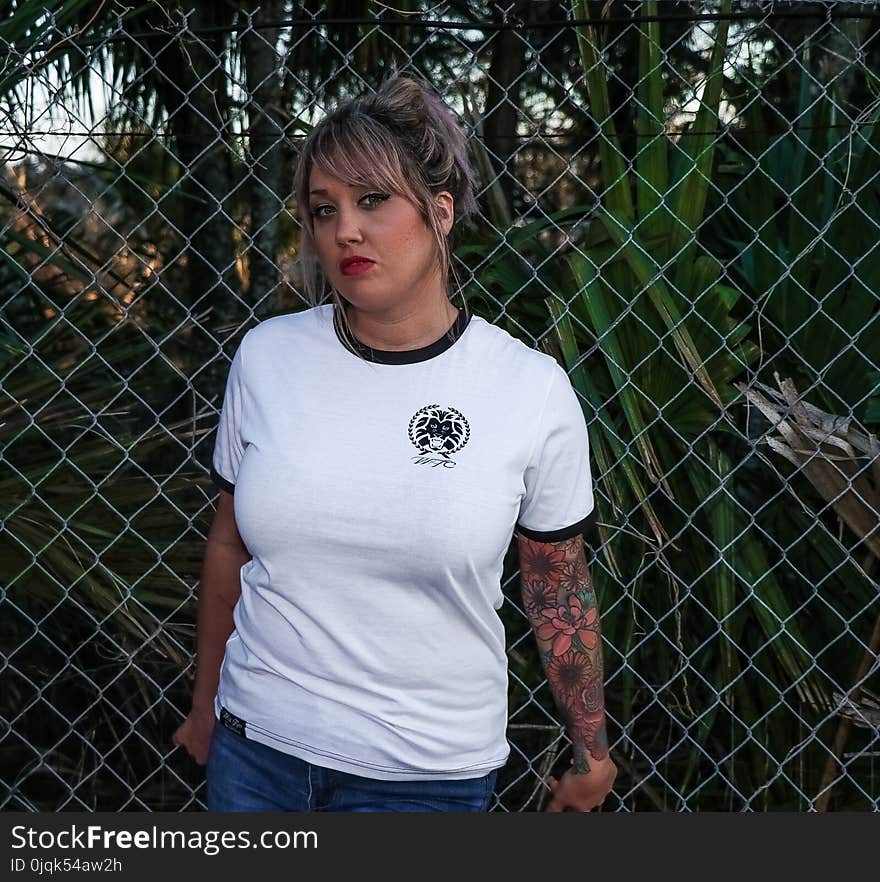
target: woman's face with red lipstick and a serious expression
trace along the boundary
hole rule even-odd
[[[451,227],[452,196],[442,193],[437,199],[448,207],[444,223]],[[405,197],[377,187],[353,187],[313,168],[309,211],[321,266],[354,307],[392,307],[421,299],[426,288],[440,285],[434,238]],[[373,263],[359,273],[343,272],[341,261],[354,256]]]

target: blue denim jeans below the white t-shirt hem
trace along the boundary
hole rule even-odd
[[[485,812],[498,770],[460,780],[379,781],[316,766],[218,721],[205,773],[211,812]]]

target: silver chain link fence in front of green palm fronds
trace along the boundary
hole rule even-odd
[[[303,132],[394,59],[471,136],[455,299],[587,415],[605,810],[877,809],[878,4],[71,6],[0,26],[0,805],[204,806],[223,383],[307,306]],[[570,746],[515,545],[503,589],[534,811]]]

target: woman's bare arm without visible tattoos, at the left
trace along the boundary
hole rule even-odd
[[[235,627],[232,611],[241,595],[241,568],[251,559],[239,535],[233,496],[220,491],[217,513],[208,534],[199,582],[196,623],[196,679],[192,709],[172,741],[205,765],[214,728],[214,696],[226,641]]]

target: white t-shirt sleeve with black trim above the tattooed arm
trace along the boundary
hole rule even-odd
[[[571,380],[558,362],[524,482],[518,533],[558,542],[592,530],[595,503],[587,424]]]

